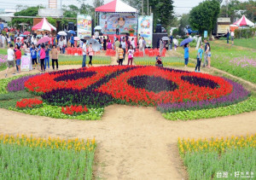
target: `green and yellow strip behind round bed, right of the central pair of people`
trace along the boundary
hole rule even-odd
[[[161,57],[164,67],[183,67],[184,60],[180,57]],[[136,65],[154,66],[155,57],[136,57]],[[195,63],[189,62],[188,67],[195,67]]]

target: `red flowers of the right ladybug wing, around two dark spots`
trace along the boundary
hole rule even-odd
[[[127,80],[129,78],[143,75],[170,80],[177,84],[178,88],[176,90],[164,90],[159,93],[155,93],[145,89],[137,89],[130,84],[127,84]],[[209,87],[200,87],[199,85],[190,84],[182,79],[183,76],[207,78],[218,84],[219,87],[212,89]],[[232,85],[225,81],[224,78],[214,77],[203,73],[177,73],[156,67],[140,67],[127,73],[122,73],[117,78],[112,78],[107,84],[103,84],[96,91],[108,93],[114,98],[125,102],[157,105],[158,103],[163,102],[184,102],[189,100],[197,102],[201,100],[211,100],[213,98],[229,94],[232,91]]]

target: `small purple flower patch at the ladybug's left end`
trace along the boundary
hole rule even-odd
[[[11,82],[9,82],[9,84],[7,85],[7,90],[9,92],[24,90],[24,84],[25,84],[26,80],[28,80],[29,78],[35,77],[35,76],[38,76],[38,74],[24,76],[21,78],[14,79]]]

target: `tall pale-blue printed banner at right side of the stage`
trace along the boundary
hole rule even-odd
[[[143,37],[145,39],[147,47],[152,47],[152,38],[153,38],[153,16],[152,15],[138,16],[137,33],[140,35],[140,37]]]

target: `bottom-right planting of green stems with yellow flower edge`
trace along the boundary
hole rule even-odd
[[[256,134],[220,139],[178,139],[179,154],[189,179],[254,179]]]

